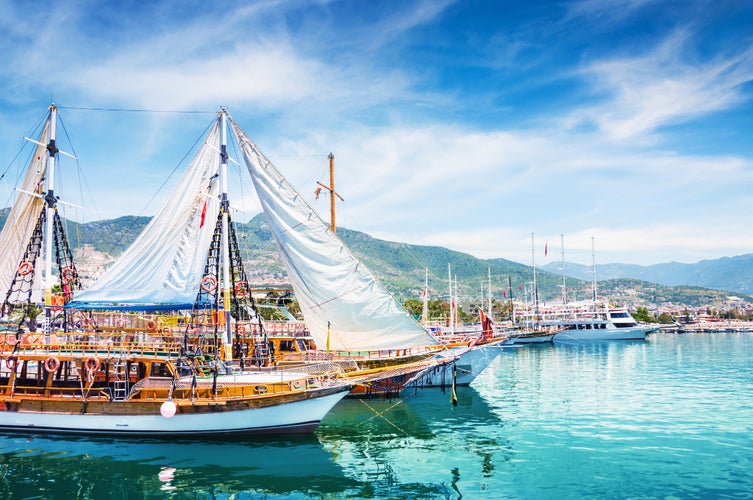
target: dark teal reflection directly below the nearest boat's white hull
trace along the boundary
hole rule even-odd
[[[187,498],[317,496],[356,484],[314,435],[248,442],[8,435],[0,460],[12,464],[0,483],[3,498],[51,498],[56,492],[143,498],[160,489]]]

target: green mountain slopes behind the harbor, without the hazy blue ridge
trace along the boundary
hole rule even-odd
[[[8,209],[0,210],[0,223],[4,224]],[[110,256],[120,255],[134,240],[148,217],[119,217],[78,224],[67,222],[71,247],[76,251],[84,246]],[[246,224],[236,224],[238,244],[250,279],[284,280],[285,269],[279,259],[277,247],[262,214]],[[523,298],[532,289],[533,270],[530,266],[506,259],[478,259],[472,255],[437,246],[409,245],[373,238],[368,234],[345,228],[338,236],[371,269],[377,279],[399,300],[420,299],[425,273],[428,273],[429,296],[432,300],[446,299],[449,295],[448,265],[461,300],[478,303],[483,293],[488,294],[488,275],[491,273],[495,300],[509,297]],[[720,259],[724,261],[724,259]],[[749,266],[753,268],[753,265]],[[742,273],[739,273],[742,274]],[[601,271],[599,272],[601,276]],[[751,280],[753,282],[753,280]],[[542,303],[560,300],[562,276],[558,272],[537,270],[536,283]],[[590,277],[569,278],[566,281],[570,300],[584,300],[592,295]],[[508,290],[509,288],[509,290]],[[598,295],[626,306],[682,304],[690,307],[711,305],[723,308],[729,292],[698,286],[667,286],[632,278],[607,279],[598,282]],[[747,294],[737,293],[753,302]]]

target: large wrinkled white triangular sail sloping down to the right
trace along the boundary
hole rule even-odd
[[[329,345],[333,350],[364,351],[436,344],[240,127],[231,124],[319,348]]]

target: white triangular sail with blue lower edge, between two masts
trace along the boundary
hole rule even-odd
[[[207,135],[179,184],[141,234],[71,302],[78,308],[190,308],[219,212],[220,126]]]

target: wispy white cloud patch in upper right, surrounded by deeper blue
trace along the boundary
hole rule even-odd
[[[690,35],[678,31],[646,55],[597,61],[582,69],[600,104],[574,111],[570,125],[595,123],[622,140],[730,109],[748,99],[753,49],[694,61]]]

